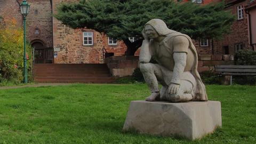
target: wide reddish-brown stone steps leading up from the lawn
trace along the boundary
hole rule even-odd
[[[40,83],[114,83],[106,64],[34,65],[34,80]]]

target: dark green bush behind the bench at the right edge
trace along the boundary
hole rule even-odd
[[[256,52],[241,50],[235,53],[235,65],[256,65]]]

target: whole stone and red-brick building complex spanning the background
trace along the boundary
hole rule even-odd
[[[77,0],[28,0],[30,12],[27,16],[27,39],[35,47],[36,63],[103,63],[103,52],[124,55],[126,46],[122,41],[116,41],[92,29],[71,29],[52,17],[56,6],[61,2]],[[187,2],[185,0],[183,2]],[[21,0],[0,0],[0,15],[14,18],[22,25],[19,10]],[[220,2],[220,0],[193,0],[198,4]],[[195,41],[198,54],[234,54],[235,50],[249,47],[249,28],[244,7],[249,1],[227,1],[227,9],[234,14],[240,12],[239,20],[233,25],[233,31],[224,41],[205,39]],[[238,9],[238,6],[242,5]],[[253,13],[252,8],[248,8]],[[242,13],[242,16],[241,16]],[[251,26],[253,30],[253,26]],[[255,30],[254,30],[255,31]],[[255,35],[251,36],[255,43]],[[131,39],[132,40],[132,39]],[[213,43],[212,43],[213,42]],[[103,47],[105,49],[103,49]],[[139,50],[136,54],[139,53]]]

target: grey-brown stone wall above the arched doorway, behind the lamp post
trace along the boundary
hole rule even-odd
[[[17,26],[23,28],[20,12],[21,0],[0,0],[0,16],[4,19],[14,19]],[[52,47],[52,9],[49,0],[31,0],[30,10],[26,18],[26,38],[33,43],[40,41],[45,47]],[[35,34],[36,29],[39,34]]]

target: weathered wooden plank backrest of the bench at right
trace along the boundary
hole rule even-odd
[[[215,71],[220,73],[252,73],[256,74],[256,66],[215,65]]]

